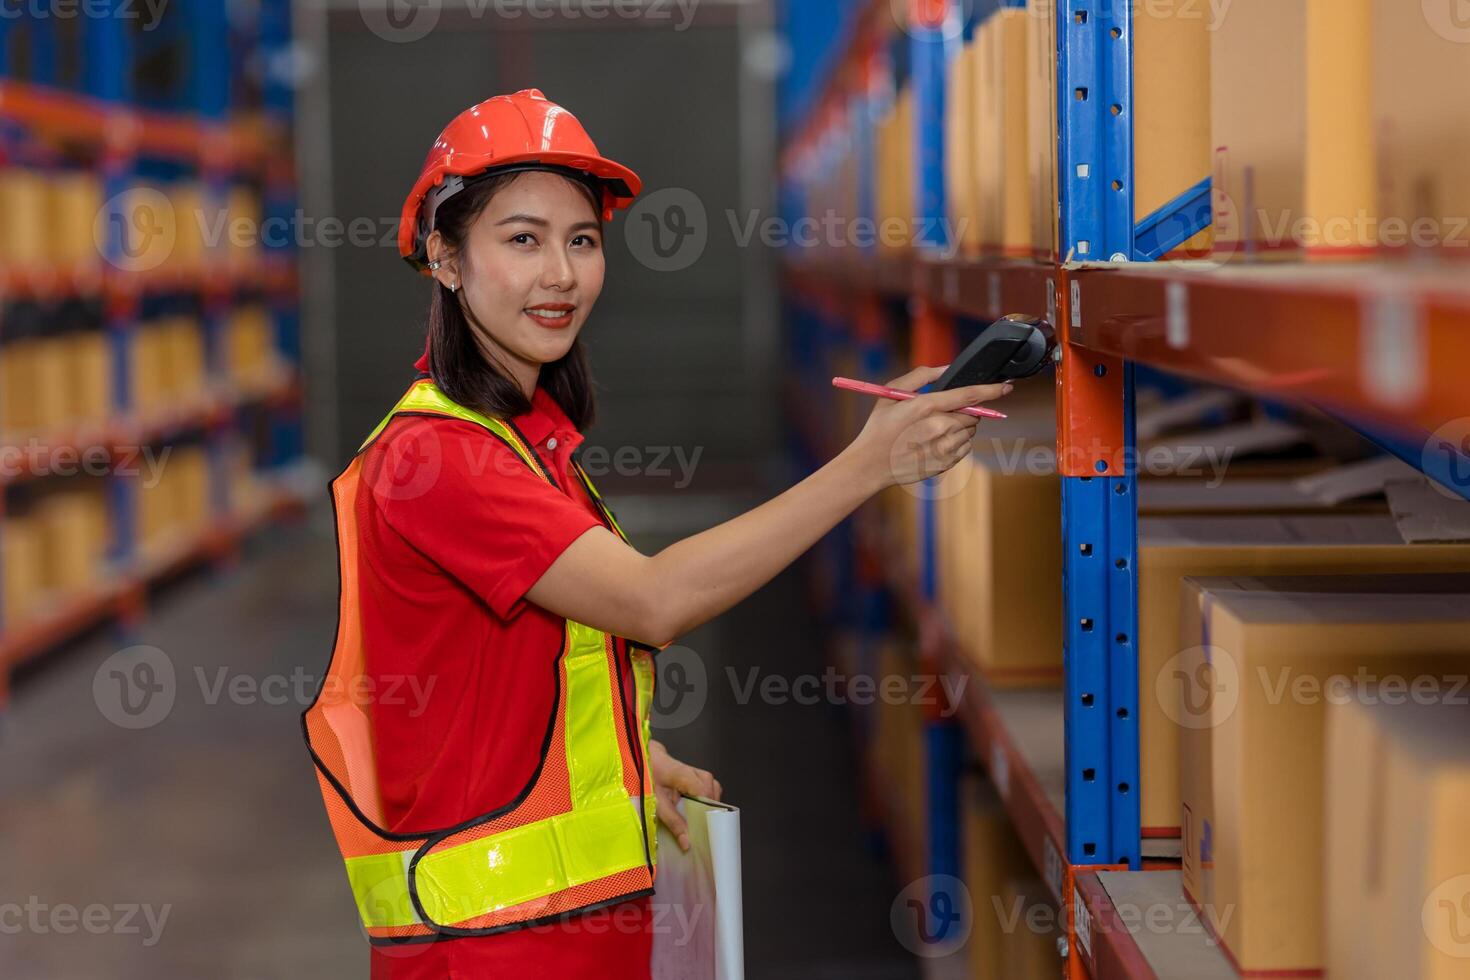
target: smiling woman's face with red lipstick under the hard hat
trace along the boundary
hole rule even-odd
[[[529,389],[541,364],[572,348],[603,272],[601,228],[587,194],[556,173],[529,170],[490,198],[463,251],[437,278],[460,284],[470,323],[490,334],[481,345]]]

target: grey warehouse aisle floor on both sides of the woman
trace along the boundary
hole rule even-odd
[[[19,679],[0,735],[6,976],[366,977],[297,721],[335,624],[320,525],[272,530],[241,564],[159,599],[129,641],[166,658],[128,674],[135,692],[166,705],[172,667],[172,707],[151,727],[104,717],[148,720],[160,704],[134,698],[143,714],[119,716],[106,633]],[[841,710],[739,702],[753,667],[823,670],[797,573],[681,646],[709,698],[663,738],[744,807],[751,980],[916,977],[888,924],[900,883],[858,824]]]

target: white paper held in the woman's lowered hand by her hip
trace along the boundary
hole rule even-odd
[[[685,796],[679,811],[688,852],[659,824],[653,980],[745,980],[739,810]]]

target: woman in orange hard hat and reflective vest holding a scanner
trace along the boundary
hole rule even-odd
[[[792,489],[639,554],[572,460],[603,223],[638,191],[523,90],[454,119],[404,206],[428,345],[332,483],[341,617],[303,718],[375,977],[648,977],[656,821],[688,848],[679,795],[720,796],[648,736],[651,654],[947,470],[976,425],[953,410],[1003,394],[879,403]]]

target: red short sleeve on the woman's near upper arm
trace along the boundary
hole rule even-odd
[[[369,448],[363,492],[385,523],[501,619],[601,522],[472,422],[395,419]]]

